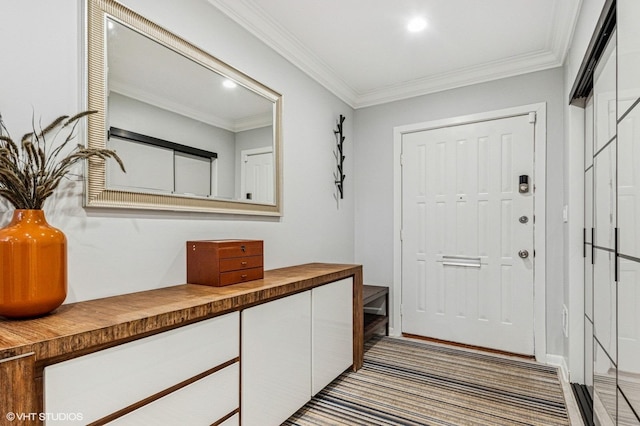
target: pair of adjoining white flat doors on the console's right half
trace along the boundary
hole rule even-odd
[[[242,311],[242,424],[277,426],[353,363],[353,279]]]

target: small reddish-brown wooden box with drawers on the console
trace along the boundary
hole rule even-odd
[[[264,278],[262,240],[187,241],[187,283],[222,287]]]

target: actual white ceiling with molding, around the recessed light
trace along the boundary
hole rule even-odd
[[[359,108],[561,66],[582,0],[209,2]]]

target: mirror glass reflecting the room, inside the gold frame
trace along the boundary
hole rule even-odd
[[[107,188],[275,203],[274,102],[106,22]]]

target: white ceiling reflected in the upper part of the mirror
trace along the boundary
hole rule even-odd
[[[107,28],[110,92],[230,132],[272,124],[271,100],[225,88],[226,78],[114,19]]]

